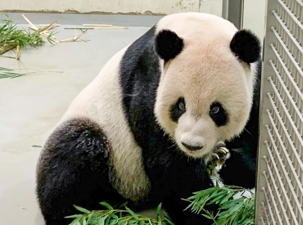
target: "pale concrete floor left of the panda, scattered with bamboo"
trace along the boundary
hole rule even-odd
[[[20,13],[10,15],[25,23]],[[135,41],[160,17],[128,15],[25,15],[35,24],[62,24],[58,40],[72,37],[68,24],[108,23],[128,30],[88,30],[89,42],[69,42],[22,51],[21,60],[0,57],[0,67],[42,72],[0,79],[0,224],[44,224],[35,196],[35,167],[47,136],[74,97],[90,83],[107,60]],[[5,18],[0,13],[0,19]],[[21,24],[24,28],[27,24]],[[73,25],[73,27],[75,27]],[[79,33],[79,32],[78,32]],[[5,54],[6,56],[15,54]],[[32,70],[24,70],[32,69]],[[47,71],[59,71],[47,72]]]

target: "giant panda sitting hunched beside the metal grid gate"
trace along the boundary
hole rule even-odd
[[[213,185],[205,160],[245,127],[259,56],[251,31],[192,12],[161,18],[115,54],[42,149],[46,223],[68,223],[73,204],[127,201],[134,210],[162,202],[176,225],[208,224],[181,198]]]

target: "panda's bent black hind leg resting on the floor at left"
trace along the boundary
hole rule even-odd
[[[96,209],[100,201],[118,201],[108,178],[109,151],[102,129],[89,119],[68,120],[50,135],[37,167],[38,201],[47,225],[68,224],[65,216],[79,214],[73,204]]]

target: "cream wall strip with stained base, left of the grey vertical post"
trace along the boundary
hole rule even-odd
[[[0,11],[105,12],[132,14],[172,14],[208,12],[222,15],[223,0],[1,0]]]

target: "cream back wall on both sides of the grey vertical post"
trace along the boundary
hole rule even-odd
[[[172,14],[206,12],[222,16],[226,0],[0,0],[0,11]],[[229,0],[232,2],[232,0]],[[243,28],[263,39],[265,0],[244,0]]]

